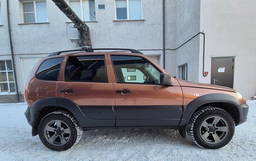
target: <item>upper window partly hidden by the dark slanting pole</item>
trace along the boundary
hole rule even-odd
[[[94,0],[70,0],[69,5],[83,21],[96,21]]]

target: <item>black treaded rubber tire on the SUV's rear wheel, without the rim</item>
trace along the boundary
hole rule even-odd
[[[49,138],[46,135],[47,132],[45,132],[45,129],[47,129],[46,126],[48,126],[49,122],[54,122],[54,121],[60,121],[63,126],[68,127],[68,129],[69,129],[70,134],[67,134],[69,137],[66,137],[68,139],[65,140],[66,142],[63,145],[61,142],[62,135],[58,135],[58,134],[56,134],[56,132],[54,134],[53,132],[48,131],[48,135],[49,135],[49,133],[56,135],[56,136],[58,135],[59,140],[60,140],[59,141],[60,145],[57,145],[57,144],[54,144],[54,143],[51,143],[48,141]],[[56,125],[56,123],[55,123],[55,125]],[[53,128],[55,128],[55,127],[56,127],[56,129],[58,128],[57,126],[54,126]],[[39,133],[40,140],[47,148],[49,148],[51,150],[55,150],[55,151],[62,151],[62,150],[67,150],[67,149],[72,148],[72,146],[75,146],[77,144],[77,142],[80,141],[81,137],[83,136],[83,129],[79,126],[79,123],[76,121],[75,117],[72,116],[71,114],[69,114],[65,111],[55,111],[55,112],[47,114],[40,121],[39,127],[38,127],[38,133]],[[64,137],[64,135],[66,135],[66,134],[63,133],[63,137]],[[57,140],[58,140],[58,138],[57,138]],[[58,141],[57,141],[57,143],[58,143]]]

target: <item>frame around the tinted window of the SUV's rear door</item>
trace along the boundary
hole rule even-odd
[[[105,66],[105,72],[106,72],[106,78],[107,78],[107,81],[106,82],[102,82],[102,81],[72,81],[72,80],[66,80],[66,67],[67,67],[67,62],[68,62],[68,59],[70,57],[90,57],[90,56],[103,56],[104,57],[104,66]],[[66,61],[66,65],[65,65],[65,68],[64,68],[64,81],[65,82],[97,82],[97,83],[109,83],[108,81],[108,72],[107,72],[107,65],[106,65],[106,56],[105,54],[97,54],[97,55],[81,55],[81,56],[67,56],[67,61]]]

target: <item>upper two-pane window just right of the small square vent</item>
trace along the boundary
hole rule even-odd
[[[141,20],[141,0],[116,0],[116,20]]]

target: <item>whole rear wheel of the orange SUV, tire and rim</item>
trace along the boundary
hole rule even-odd
[[[83,135],[76,119],[64,111],[47,114],[40,122],[38,131],[43,144],[56,151],[70,149]]]

